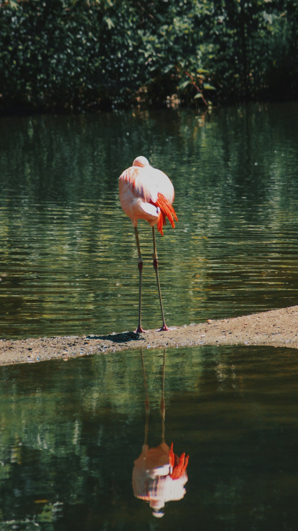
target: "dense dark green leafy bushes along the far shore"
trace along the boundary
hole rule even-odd
[[[297,20],[297,0],[2,1],[1,108],[295,97]]]

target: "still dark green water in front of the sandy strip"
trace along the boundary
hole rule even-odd
[[[0,367],[0,528],[294,531],[297,374],[244,346]],[[132,479],[163,441],[189,463],[152,510]]]

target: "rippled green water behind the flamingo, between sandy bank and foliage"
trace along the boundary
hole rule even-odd
[[[167,324],[297,304],[297,103],[202,115],[0,119],[0,337],[133,330],[137,249],[118,177],[146,156],[175,187],[157,238]],[[161,325],[139,223],[143,326]]]

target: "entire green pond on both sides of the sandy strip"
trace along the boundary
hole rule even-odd
[[[1,118],[0,338],[137,327],[118,177],[138,155],[175,187],[157,238],[169,325],[297,304],[297,110]],[[0,529],[294,530],[297,373],[296,349],[239,346],[0,367]]]

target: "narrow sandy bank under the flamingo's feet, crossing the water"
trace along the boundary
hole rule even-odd
[[[195,345],[271,345],[298,348],[298,306],[233,319],[171,328],[167,332],[123,332],[98,336],[68,336],[0,340],[0,365],[68,359],[128,349]]]

